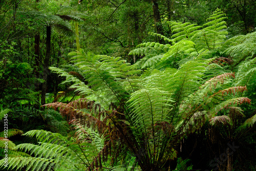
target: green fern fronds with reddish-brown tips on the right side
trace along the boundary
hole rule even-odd
[[[228,87],[223,89],[223,84],[229,82],[230,77],[234,78],[234,73],[225,73],[206,81],[200,89],[183,101],[181,104],[181,113],[193,114],[189,119],[185,131],[194,132],[206,121],[209,123],[230,123],[229,116],[218,116],[221,111],[228,111],[236,108],[236,105],[243,103],[250,104],[251,100],[247,97],[239,97],[246,86]],[[189,104],[189,105],[187,105]],[[187,116],[187,115],[185,115]],[[184,120],[185,122],[185,120]]]

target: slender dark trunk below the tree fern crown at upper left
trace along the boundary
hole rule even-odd
[[[51,26],[46,27],[46,57],[44,61],[44,72],[42,73],[42,79],[44,79],[44,83],[42,83],[42,91],[41,91],[41,105],[46,103],[46,89],[47,89],[47,75],[49,68],[49,60],[51,57]]]

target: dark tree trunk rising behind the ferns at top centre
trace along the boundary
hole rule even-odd
[[[160,17],[160,12],[158,8],[158,0],[151,0],[153,3],[153,12],[154,12],[154,20],[155,20],[155,28],[158,34],[163,34],[162,32],[162,23],[161,23],[161,17]],[[158,40],[160,44],[163,43],[163,40],[159,38]]]

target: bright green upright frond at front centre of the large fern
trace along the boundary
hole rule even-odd
[[[170,102],[174,102],[168,98],[169,94],[159,89],[141,89],[131,95],[129,108],[132,111],[131,118],[136,125],[136,129],[145,131],[144,129],[154,129],[157,121],[166,118],[166,114],[170,109]],[[142,127],[141,127],[142,126]]]

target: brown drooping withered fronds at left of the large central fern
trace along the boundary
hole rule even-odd
[[[110,111],[105,111],[101,109],[99,104],[87,99],[78,99],[68,104],[55,102],[44,106],[59,110],[62,116],[68,116],[69,123],[74,124],[78,129],[75,134],[76,143],[92,143],[104,138],[104,141],[101,140],[100,145],[102,149],[98,152],[94,162],[91,163],[90,169],[95,168],[100,161],[108,161],[109,156],[111,157],[110,165],[116,162],[115,160],[119,156],[121,149],[124,148],[123,137],[128,130],[125,117],[117,111],[119,109],[117,106],[112,104]],[[84,109],[86,112],[82,111]],[[114,123],[112,122],[113,120]],[[119,129],[122,129],[122,133],[116,125],[118,125]],[[103,145],[102,142],[104,143]]]

